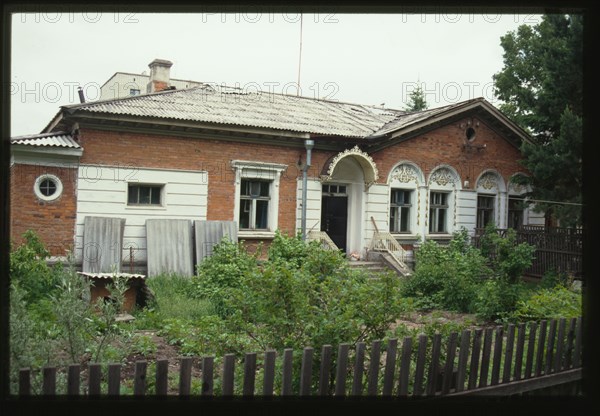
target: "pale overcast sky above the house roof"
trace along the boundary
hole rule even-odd
[[[305,14],[301,94],[404,108],[417,82],[430,108],[484,97],[502,69],[500,37],[540,15]],[[155,58],[171,77],[296,94],[300,15],[16,13],[12,27],[11,135],[37,134],[61,105],[99,97],[115,72],[142,73]]]

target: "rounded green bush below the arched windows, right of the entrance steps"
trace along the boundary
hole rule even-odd
[[[426,241],[416,254],[416,269],[402,287],[424,309],[472,312],[477,285],[489,274],[485,259],[468,243],[466,230],[454,233],[448,246]]]

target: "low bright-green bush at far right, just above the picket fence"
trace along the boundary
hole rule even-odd
[[[581,293],[557,285],[541,289],[527,300],[520,300],[513,317],[520,321],[577,318],[582,312]]]

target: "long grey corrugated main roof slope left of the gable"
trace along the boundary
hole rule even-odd
[[[63,108],[356,138],[368,137],[406,114],[375,106],[206,86]]]

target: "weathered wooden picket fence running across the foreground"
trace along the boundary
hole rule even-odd
[[[242,361],[243,373],[238,373],[238,376],[243,376],[237,378],[241,380],[238,390],[234,388],[236,356],[226,354],[220,362],[220,388],[217,391],[214,388],[215,360],[208,356],[200,360],[200,395],[433,397],[522,394],[581,380],[581,338],[582,318],[579,317],[543,320],[527,325],[511,324],[506,329],[497,326],[464,330],[460,335],[453,332],[446,340],[444,354],[439,333],[432,337],[419,335],[416,345],[413,345],[412,337],[406,337],[400,349],[397,338],[389,339],[386,343],[375,341],[370,345],[367,362],[367,345],[362,342],[356,344],[353,354],[350,344],[340,344],[335,357],[331,345],[323,346],[318,366],[314,365],[314,349],[306,347],[302,350],[300,372],[296,374],[296,377],[299,375],[299,385],[296,379],[294,388],[292,349],[285,349],[280,357],[275,351],[264,353],[260,364],[262,386],[256,383],[258,355],[246,353]],[[281,384],[275,386],[278,359],[281,360]],[[442,359],[444,362],[441,362]],[[168,365],[167,360],[156,360],[154,388],[149,389],[148,362],[137,361],[133,395],[167,395]],[[192,357],[181,358],[176,395],[191,395],[192,365]],[[318,373],[313,374],[313,367],[318,367]],[[42,369],[42,395],[121,394],[121,364],[108,365],[104,375],[100,364],[89,364],[87,389],[82,389],[81,367],[68,366],[64,393],[57,393],[57,371],[56,367]],[[32,394],[31,377],[31,369],[20,371],[19,396]],[[101,391],[102,386],[105,391]],[[84,393],[81,393],[82,390]]]

